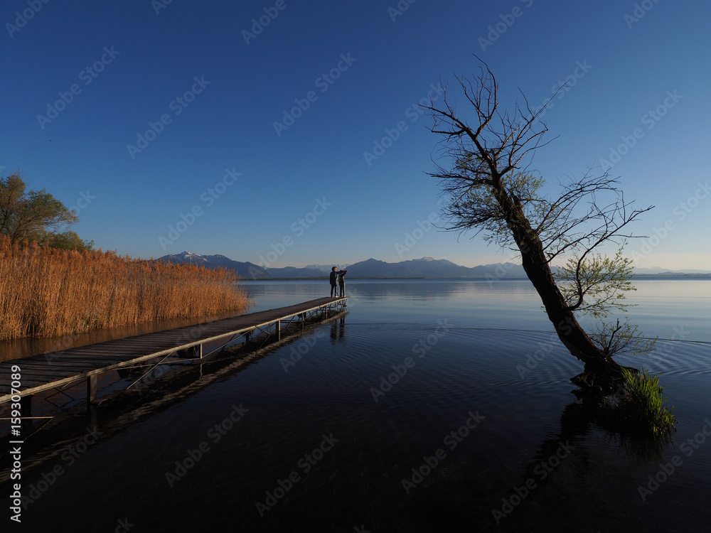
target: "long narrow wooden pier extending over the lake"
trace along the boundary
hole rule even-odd
[[[9,402],[13,396],[17,401],[18,395],[27,401],[31,394],[68,387],[80,380],[86,381],[87,402],[91,403],[96,397],[97,377],[105,372],[161,358],[157,366],[173,355],[199,360],[242,337],[250,340],[259,332],[280,339],[282,331],[290,327],[303,329],[306,321],[345,311],[347,298],[318,298],[294,306],[0,362],[0,404]],[[208,345],[217,346],[205,352],[203,348]],[[11,372],[14,366],[20,372]],[[13,377],[17,373],[19,380]],[[14,387],[17,381],[20,387]]]

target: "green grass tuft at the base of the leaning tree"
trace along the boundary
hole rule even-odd
[[[620,432],[635,432],[653,437],[669,436],[675,431],[673,407],[665,406],[658,376],[622,370],[622,382],[616,394],[600,405],[601,416]]]

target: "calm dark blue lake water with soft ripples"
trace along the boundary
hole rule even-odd
[[[329,289],[245,286],[250,311]],[[628,314],[659,340],[619,362],[660,375],[679,420],[656,450],[581,413],[582,365],[528,281],[349,281],[344,317],[101,406],[98,433],[33,424],[13,530],[708,531],[711,281],[636,286]]]

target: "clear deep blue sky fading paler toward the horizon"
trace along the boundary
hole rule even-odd
[[[0,175],[77,208],[102,249],[508,260],[428,222],[438,139],[417,104],[476,54],[503,107],[569,80],[533,163],[549,190],[610,161],[626,198],[656,206],[635,264],[711,269],[703,1],[8,0],[0,17]]]

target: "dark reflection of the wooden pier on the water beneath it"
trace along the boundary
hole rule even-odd
[[[88,416],[82,394],[84,384],[64,389],[62,392],[48,391],[34,395],[33,410],[25,411],[34,419],[24,419],[23,434],[32,435],[24,444],[23,476],[33,479],[43,472],[51,471],[63,453],[82,442],[87,428],[101,431],[102,441],[127,431],[141,421],[151,419],[157,414],[171,409],[176,404],[186,402],[196,394],[212,387],[218,382],[239,374],[257,364],[274,351],[296,343],[301,338],[314,335],[317,328],[336,328],[336,338],[343,340],[345,318],[348,311],[342,311],[332,318],[307,325],[304,330],[284,335],[255,335],[249,342],[194,362],[171,365],[161,370],[156,367],[145,374],[144,366],[109,372],[107,380],[113,380],[112,390],[97,406],[90,409]],[[338,333],[340,331],[340,333]],[[143,375],[138,387],[126,389],[137,376]],[[67,398],[67,403],[53,401],[60,394]],[[2,415],[5,416],[5,415]],[[8,422],[9,419],[0,421]],[[0,424],[0,441],[9,441],[9,424]],[[11,486],[10,471],[0,471],[0,491],[7,491]],[[9,493],[9,492],[7,492]]]

